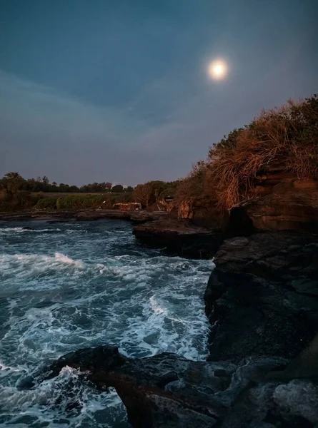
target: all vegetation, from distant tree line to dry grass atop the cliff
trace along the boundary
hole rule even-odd
[[[181,217],[191,218],[194,207],[222,213],[254,200],[257,183],[275,168],[298,178],[318,179],[317,95],[263,111],[248,125],[234,129],[183,180],[149,181],[135,188],[109,182],[78,188],[50,183],[46,176],[26,180],[19,173],[8,173],[0,179],[0,210],[76,210],[101,204],[111,208],[134,200],[143,208],[177,208]],[[47,195],[50,198],[44,198]]]

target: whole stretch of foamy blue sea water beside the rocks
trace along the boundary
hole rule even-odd
[[[212,261],[144,248],[131,229],[121,220],[0,222],[1,427],[129,427],[116,391],[96,391],[69,367],[26,387],[81,347],[207,357]]]

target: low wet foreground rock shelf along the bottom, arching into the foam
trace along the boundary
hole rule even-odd
[[[81,370],[96,388],[116,388],[134,428],[316,427],[317,387],[311,381],[284,384],[265,377],[286,364],[277,357],[194,362],[169,353],[132,359],[102,346],[61,357],[36,382],[58,376],[66,365]],[[72,394],[70,399],[74,408]]]

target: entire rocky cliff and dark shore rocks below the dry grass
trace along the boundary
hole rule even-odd
[[[194,212],[134,228],[146,245],[214,255],[207,362],[104,346],[71,352],[34,382],[74,367],[98,389],[115,387],[138,428],[318,428],[317,182],[277,168],[255,193],[226,226],[201,208],[200,224]]]

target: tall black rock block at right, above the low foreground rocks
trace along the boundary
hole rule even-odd
[[[225,240],[204,296],[211,360],[293,358],[318,329],[318,237],[279,232]]]

